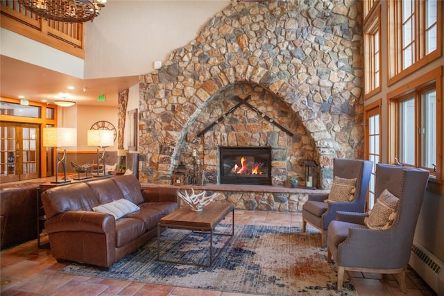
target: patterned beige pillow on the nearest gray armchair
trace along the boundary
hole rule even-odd
[[[377,198],[375,206],[368,211],[364,224],[370,229],[388,229],[396,217],[399,198],[385,189]]]

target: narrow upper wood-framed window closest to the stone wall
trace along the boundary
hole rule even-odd
[[[366,49],[364,55],[364,69],[366,70],[364,96],[366,97],[372,96],[375,92],[381,90],[380,8],[373,15],[370,24],[364,28],[364,46]]]

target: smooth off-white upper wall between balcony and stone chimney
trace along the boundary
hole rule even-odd
[[[133,76],[153,71],[155,60],[196,38],[228,0],[111,0],[86,25],[85,78]]]

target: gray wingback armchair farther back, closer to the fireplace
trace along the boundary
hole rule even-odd
[[[310,223],[321,230],[321,241],[324,246],[327,227],[336,217],[336,211],[364,212],[372,168],[373,162],[369,160],[335,158],[333,160],[334,177],[356,178],[354,196],[348,202],[325,202],[329,198],[328,193],[309,195],[307,202],[302,206],[302,232],[305,232],[307,223]]]

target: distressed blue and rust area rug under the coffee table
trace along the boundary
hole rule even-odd
[[[229,233],[231,225],[216,230]],[[208,263],[209,241],[209,234],[167,229],[160,238],[160,254],[166,260]],[[346,275],[342,293],[337,292],[336,266],[327,263],[327,251],[320,245],[318,232],[236,225],[231,239],[214,235],[213,250],[220,253],[212,267],[157,261],[157,238],[153,238],[108,271],[72,263],[60,272],[259,295],[357,295]]]

